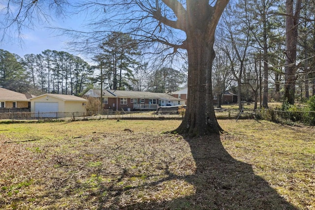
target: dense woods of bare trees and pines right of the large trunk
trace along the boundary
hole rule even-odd
[[[305,101],[315,95],[315,1],[230,1],[216,32],[213,89],[241,101]],[[255,104],[257,108],[257,104]]]

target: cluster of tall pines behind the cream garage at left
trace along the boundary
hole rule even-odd
[[[80,95],[91,87],[94,73],[80,57],[55,50],[27,54],[23,58],[0,50],[0,64],[3,88],[35,95],[46,92]]]

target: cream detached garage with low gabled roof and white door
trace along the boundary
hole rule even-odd
[[[64,118],[72,117],[72,113],[83,116],[88,100],[74,95],[46,93],[30,98],[30,101],[31,112],[35,113],[35,117]]]

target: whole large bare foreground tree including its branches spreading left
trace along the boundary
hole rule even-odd
[[[60,3],[64,1],[48,2],[61,5]],[[93,45],[97,49],[96,46],[104,40],[105,34],[110,31],[122,31],[133,36],[140,45],[147,44],[146,49],[160,55],[159,58],[163,61],[167,55],[173,61],[175,57],[172,55],[175,53],[184,55],[187,52],[189,63],[187,110],[177,132],[189,136],[220,133],[222,128],[217,122],[213,107],[211,72],[215,58],[213,49],[215,31],[228,1],[91,0],[83,4],[78,3],[77,8],[80,11],[88,11],[91,17],[89,26],[95,28],[90,31],[65,32],[75,37],[83,49]],[[28,8],[38,8],[40,2],[28,1],[30,3],[27,5],[22,0],[16,2],[20,2],[21,11],[25,14],[23,17],[32,20],[36,13],[29,14],[31,11]],[[41,3],[42,6],[45,4]],[[40,14],[38,11],[37,13]],[[7,23],[17,24],[19,29],[23,26],[21,24],[23,20],[19,19],[22,16],[19,14],[14,16],[11,18],[12,21]]]

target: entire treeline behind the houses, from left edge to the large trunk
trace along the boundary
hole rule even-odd
[[[171,92],[185,85],[185,71],[161,67],[148,70],[133,54],[117,50],[115,42],[91,65],[64,51],[45,50],[20,57],[0,49],[0,86],[17,92],[74,94],[90,89]],[[104,48],[103,48],[104,49]],[[119,54],[120,53],[120,54]],[[137,53],[138,55],[138,53]],[[102,70],[102,74],[100,73]],[[102,86],[100,82],[102,81]]]

